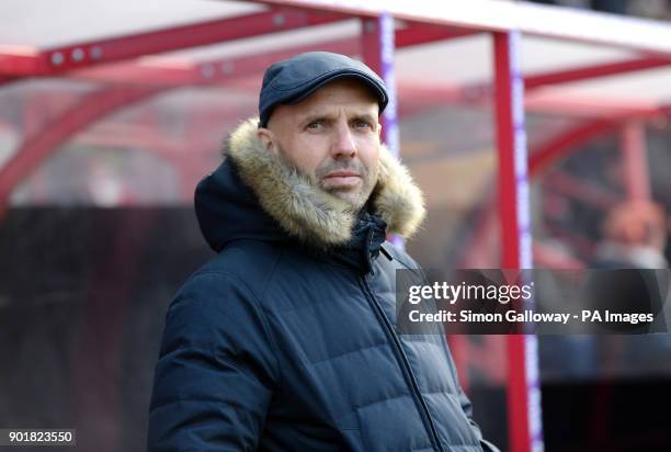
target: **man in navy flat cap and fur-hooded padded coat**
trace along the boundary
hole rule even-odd
[[[152,451],[496,450],[470,419],[443,335],[396,332],[387,234],[422,194],[380,145],[388,97],[365,65],[307,53],[271,66],[260,118],[196,189],[218,256],[167,316]]]

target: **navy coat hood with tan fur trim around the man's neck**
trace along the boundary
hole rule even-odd
[[[196,190],[196,213],[212,248],[218,251],[235,238],[272,240],[283,235],[321,249],[346,244],[356,213],[268,151],[257,136],[257,118],[250,118],[230,135],[227,161]],[[387,224],[388,233],[408,238],[424,218],[423,195],[406,167],[385,146],[379,165],[369,211]],[[244,187],[236,187],[239,181]],[[260,205],[263,213],[250,212],[254,210],[252,204],[257,204],[257,211]]]

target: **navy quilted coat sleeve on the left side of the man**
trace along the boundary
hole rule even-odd
[[[149,408],[149,451],[252,451],[278,378],[260,305],[205,273],[170,305]]]

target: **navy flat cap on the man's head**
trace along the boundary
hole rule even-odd
[[[265,127],[273,109],[295,104],[326,83],[352,77],[367,84],[377,97],[382,113],[389,102],[384,81],[361,61],[330,52],[308,52],[270,66],[259,95],[259,127]]]

